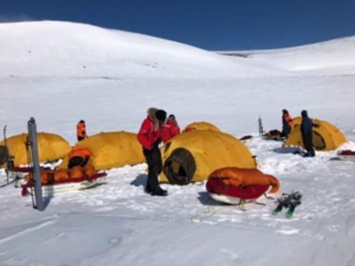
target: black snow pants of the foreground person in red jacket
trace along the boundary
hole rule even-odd
[[[154,144],[151,150],[143,149],[148,164],[147,188],[154,191],[159,186],[158,176],[163,170],[162,155],[158,144]]]

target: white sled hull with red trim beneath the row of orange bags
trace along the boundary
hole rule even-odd
[[[69,182],[52,183],[52,184],[42,184],[42,193],[44,196],[50,196],[58,193],[64,193],[76,190],[85,190],[98,185],[106,183],[106,173],[96,173],[91,177],[83,176],[82,178],[77,178],[70,180]],[[28,181],[26,184],[22,184],[22,196],[26,196],[31,193],[31,188],[33,183]]]

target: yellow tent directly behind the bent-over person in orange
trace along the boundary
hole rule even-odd
[[[145,161],[137,134],[128,132],[101,132],[79,141],[75,147],[86,147],[91,151],[89,163],[96,170],[134,165]],[[68,156],[59,169],[68,167]]]

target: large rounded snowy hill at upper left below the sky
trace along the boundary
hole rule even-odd
[[[73,22],[0,23],[0,36],[1,76],[211,78],[272,74],[269,69],[185,44]]]

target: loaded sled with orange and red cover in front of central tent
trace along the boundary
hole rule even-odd
[[[256,201],[266,193],[278,191],[278,180],[258,169],[226,167],[214,171],[206,183],[212,199],[228,204]]]

